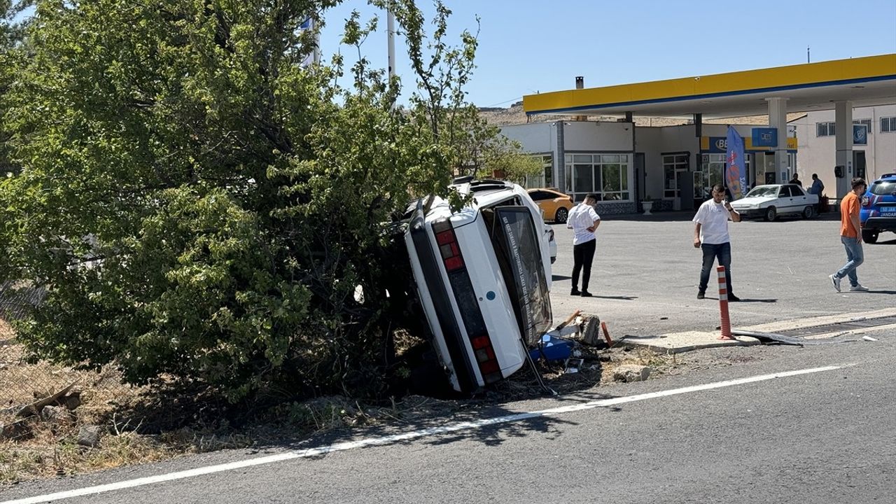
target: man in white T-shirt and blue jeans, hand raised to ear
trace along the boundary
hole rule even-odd
[[[720,266],[725,266],[728,301],[740,300],[731,290],[731,237],[728,235],[728,221],[740,222],[740,213],[725,201],[725,187],[716,184],[712,187],[712,198],[703,202],[694,215],[694,248],[701,248],[703,251],[700,286],[697,288],[698,300],[706,297],[712,264],[716,259]]]

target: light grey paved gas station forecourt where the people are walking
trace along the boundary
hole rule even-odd
[[[711,331],[719,326],[718,285],[710,278],[707,299],[697,300],[702,253],[694,248],[691,213],[652,218],[604,215],[589,290],[593,298],[569,295],[573,234],[555,224],[557,260],[551,300],[554,317],[575,309],[607,322],[614,335],[662,335]],[[645,220],[650,219],[650,220]],[[660,219],[663,219],[660,221]],[[732,222],[732,326],[871,311],[896,306],[896,234],[865,244],[858,280],[870,292],[837,293],[828,275],[846,263],[836,214],[805,221]]]

